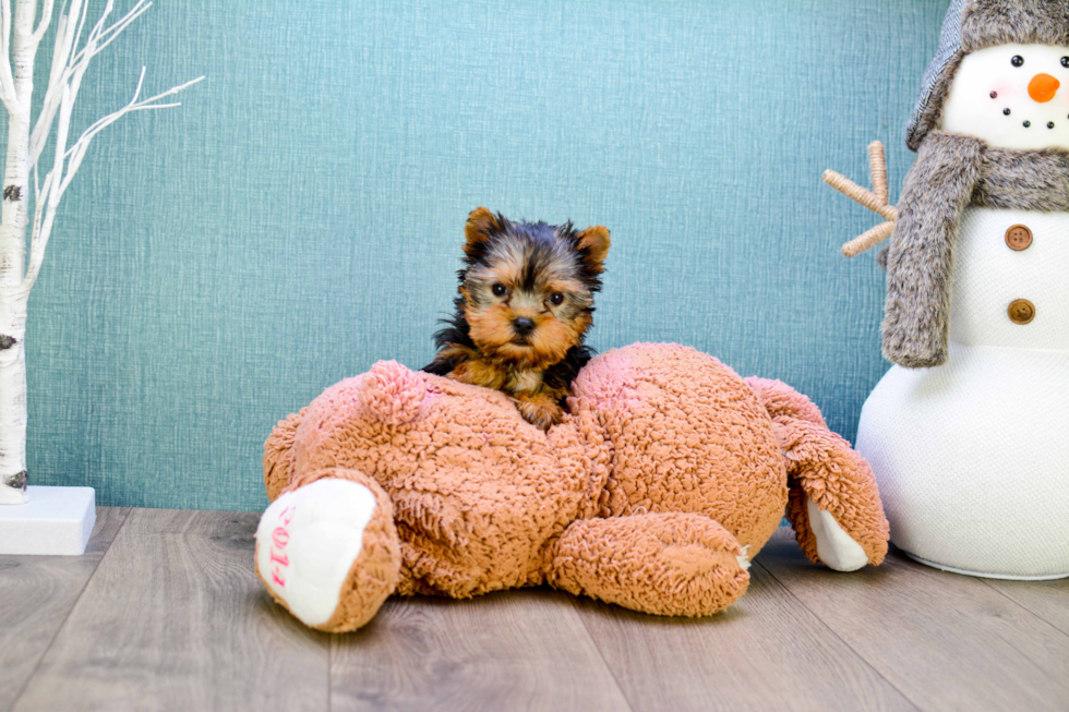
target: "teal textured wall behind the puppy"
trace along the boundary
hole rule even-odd
[[[32,481],[262,508],[278,419],[430,360],[479,205],[612,230],[596,348],[694,346],[853,437],[882,274],[839,255],[875,219],[820,173],[865,179],[880,138],[897,195],[946,5],[159,0],[79,125],[142,63],[148,92],[207,80],[103,134],[64,198],[31,299]]]

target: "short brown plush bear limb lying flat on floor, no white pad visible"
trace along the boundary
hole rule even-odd
[[[626,608],[705,616],[746,592],[749,562],[731,533],[698,514],[651,514],[573,522],[548,580]]]

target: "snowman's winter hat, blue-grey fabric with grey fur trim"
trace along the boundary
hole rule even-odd
[[[962,58],[995,45],[1069,46],[1069,0],[952,0],[939,50],[921,83],[905,143],[916,150],[939,125],[942,105]]]

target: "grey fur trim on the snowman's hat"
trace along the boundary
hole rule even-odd
[[[942,68],[932,87],[917,125],[906,143],[917,150],[924,137],[942,118],[950,84],[970,52],[997,45],[1069,46],[1069,2],[1067,0],[972,0],[961,15],[961,46]]]

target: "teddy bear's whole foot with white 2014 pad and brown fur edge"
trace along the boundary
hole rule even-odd
[[[271,594],[302,623],[355,630],[397,587],[401,555],[389,497],[356,470],[301,475],[264,511],[255,562]]]

